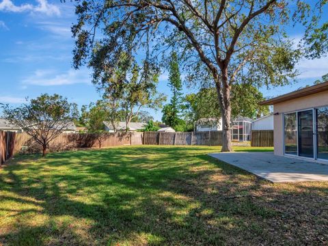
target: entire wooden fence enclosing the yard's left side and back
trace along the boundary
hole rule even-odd
[[[74,150],[77,148],[104,148],[126,145],[172,145],[172,146],[221,146],[222,131],[196,133],[63,133],[54,139],[49,150]],[[26,133],[0,131],[0,165],[13,154],[31,148],[33,141]],[[232,146],[249,146],[249,142],[232,142]],[[272,147],[273,131],[251,131],[252,147]],[[39,146],[40,148],[40,146]]]

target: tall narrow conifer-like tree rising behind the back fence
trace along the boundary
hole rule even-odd
[[[181,124],[180,113],[182,109],[182,81],[179,69],[178,56],[173,51],[169,59],[169,87],[172,97],[169,104],[163,109],[163,122],[168,126],[176,128]]]

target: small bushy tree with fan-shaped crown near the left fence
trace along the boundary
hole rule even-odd
[[[77,105],[58,94],[42,94],[20,107],[3,106],[6,120],[20,127],[42,147],[46,155],[49,143],[77,118]]]

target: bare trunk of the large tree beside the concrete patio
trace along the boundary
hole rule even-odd
[[[228,68],[221,70],[222,81],[216,81],[217,94],[222,117],[222,149],[221,152],[232,152],[231,148],[231,105],[230,105],[230,85],[228,82]]]

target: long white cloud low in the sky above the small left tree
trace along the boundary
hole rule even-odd
[[[55,70],[36,70],[29,77],[23,79],[25,85],[72,85],[76,83],[90,83],[90,72],[88,70],[70,69],[64,73],[58,73]]]

